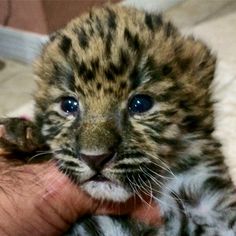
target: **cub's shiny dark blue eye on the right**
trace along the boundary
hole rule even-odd
[[[130,113],[143,113],[153,107],[153,99],[146,94],[137,94],[129,101]]]

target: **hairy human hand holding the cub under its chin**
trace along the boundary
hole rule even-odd
[[[138,199],[101,204],[72,184],[52,161],[13,165],[0,158],[0,235],[61,235],[87,214],[130,214],[146,223],[159,222],[153,203],[149,209]]]

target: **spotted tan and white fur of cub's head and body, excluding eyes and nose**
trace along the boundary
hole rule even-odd
[[[235,235],[236,193],[212,137],[215,61],[161,15],[121,6],[92,9],[51,36],[37,66],[36,122],[59,169],[95,198],[152,195],[164,221],[148,234],[98,216],[68,235]],[[151,96],[153,107],[130,114],[135,94]],[[60,108],[68,96],[76,114]],[[80,153],[111,148],[115,158],[101,170],[111,181],[87,181],[96,171]]]

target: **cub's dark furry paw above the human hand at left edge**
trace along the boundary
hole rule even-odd
[[[0,119],[0,153],[34,152],[45,146],[36,125],[26,119]]]

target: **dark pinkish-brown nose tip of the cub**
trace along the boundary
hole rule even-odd
[[[91,169],[100,171],[104,166],[115,158],[116,152],[104,153],[101,155],[85,155],[80,153],[80,158],[83,160]]]

